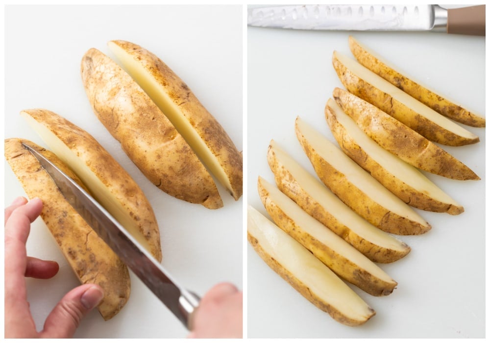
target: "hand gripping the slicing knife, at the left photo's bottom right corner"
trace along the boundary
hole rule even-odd
[[[188,338],[242,338],[243,293],[220,283],[201,299]]]

